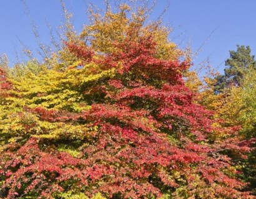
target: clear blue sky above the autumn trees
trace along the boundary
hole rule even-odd
[[[66,0],[66,7],[73,12],[72,21],[76,29],[87,23],[86,4],[89,0]],[[104,0],[92,1],[99,7]],[[256,1],[255,0],[157,0],[151,19],[155,19],[164,7],[169,8],[164,15],[164,23],[174,31],[170,40],[184,48],[190,44],[194,53],[194,67],[209,60],[210,65],[223,72],[224,61],[229,57],[229,50],[236,50],[236,45],[250,45],[256,55]],[[49,43],[49,28],[59,27],[63,20],[59,0],[26,0],[31,18],[37,25],[39,39]],[[0,54],[6,53],[11,63],[22,57],[21,43],[35,49],[36,39],[32,32],[21,0],[0,1]],[[202,48],[200,48],[202,47]]]

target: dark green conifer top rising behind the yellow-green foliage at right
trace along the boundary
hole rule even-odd
[[[254,55],[250,55],[250,47],[237,45],[237,51],[230,50],[230,58],[225,61],[228,66],[224,69],[224,75],[216,77],[215,92],[220,93],[230,85],[240,86],[244,75],[250,68],[256,68]]]

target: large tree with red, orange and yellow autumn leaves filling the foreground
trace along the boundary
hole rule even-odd
[[[1,70],[2,198],[250,198],[225,155],[247,143],[194,103],[190,63],[145,19],[92,13],[51,65]]]

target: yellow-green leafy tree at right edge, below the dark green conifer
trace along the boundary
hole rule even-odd
[[[241,126],[240,136],[245,139],[256,139],[256,70],[251,68],[241,80],[241,86],[232,86],[229,89],[220,116],[227,121],[229,125]],[[254,144],[255,146],[255,144]],[[240,161],[244,178],[250,182],[250,189],[256,193],[256,151],[249,154],[249,159]]]

